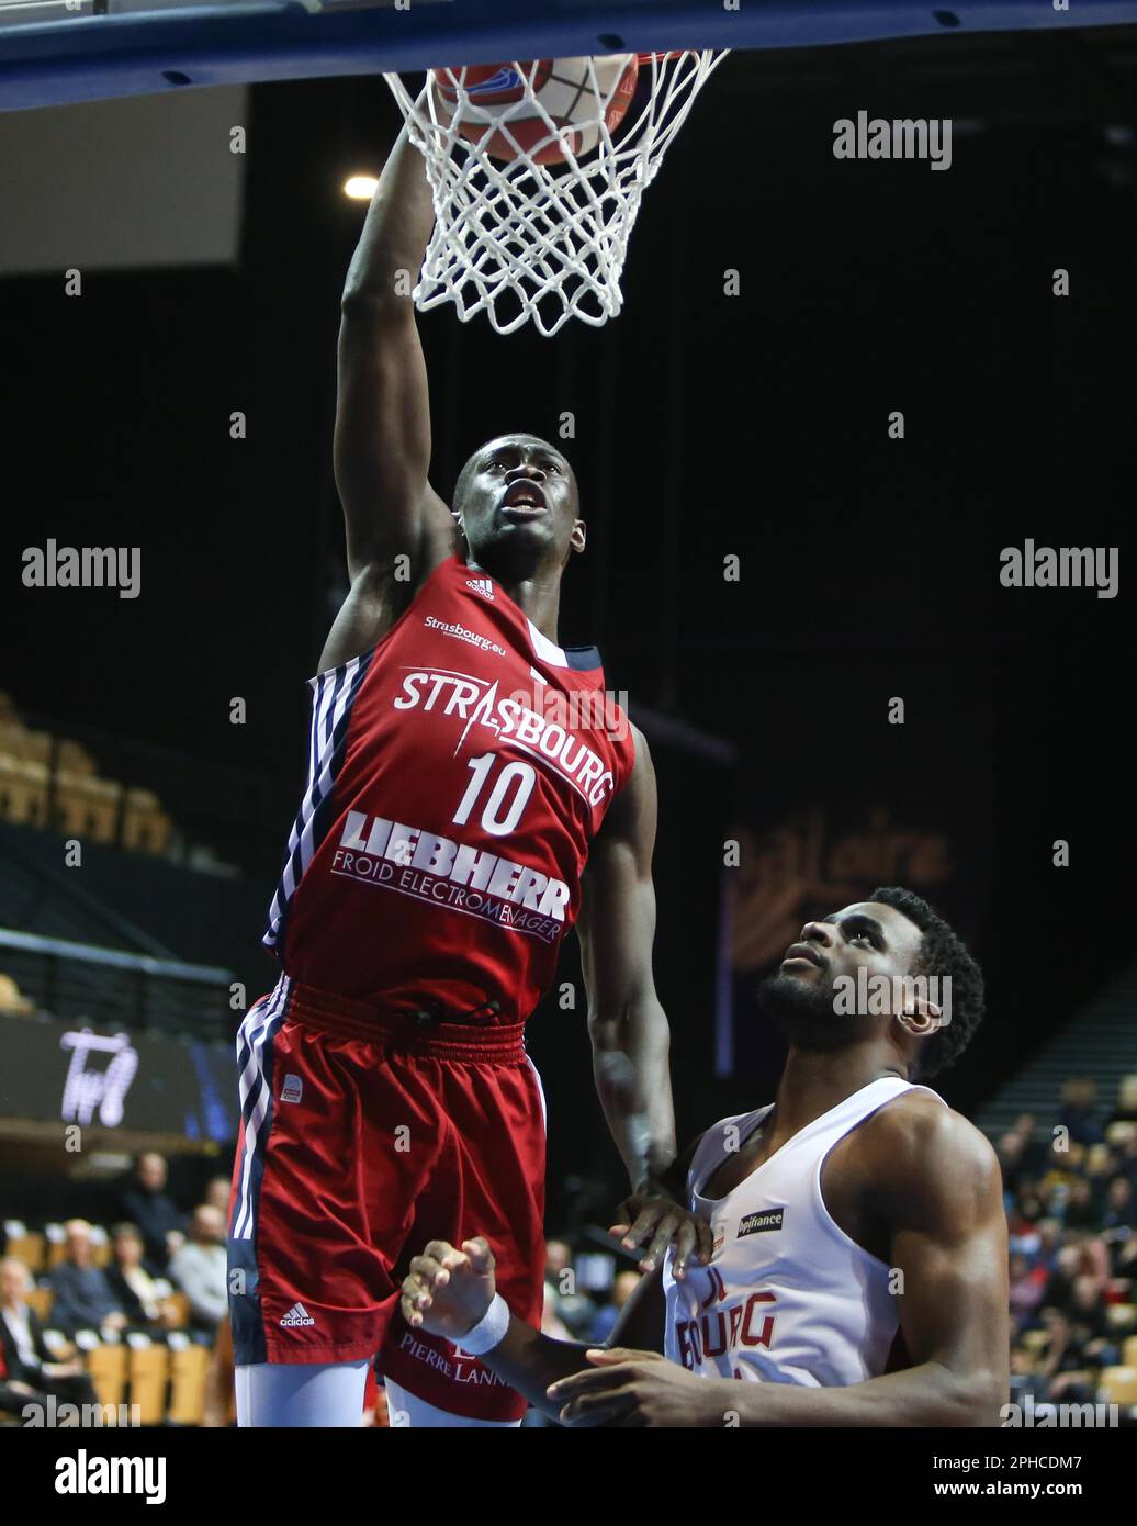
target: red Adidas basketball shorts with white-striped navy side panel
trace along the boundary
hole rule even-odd
[[[241,1132],[229,1215],[238,1366],[357,1361],[453,1415],[525,1401],[398,1293],[432,1239],[484,1235],[498,1288],[540,1325],[545,1117],[520,1025],[395,1018],[287,975],[237,1041]]]

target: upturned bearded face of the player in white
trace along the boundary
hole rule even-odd
[[[871,900],[807,922],[800,942],[786,949],[778,974],[762,986],[763,1007],[792,1044],[839,1048],[882,1021],[870,1015],[876,1007],[859,1015],[859,981],[885,977],[885,989],[891,987],[896,977],[916,969],[920,942],[916,923]],[[856,1004],[852,1012],[850,1000]]]

